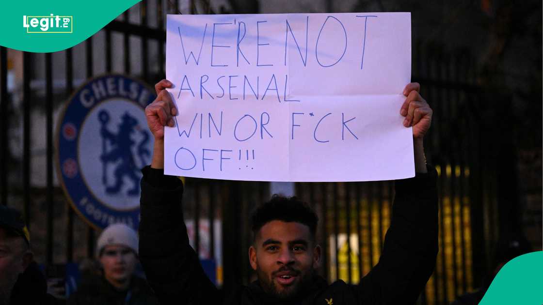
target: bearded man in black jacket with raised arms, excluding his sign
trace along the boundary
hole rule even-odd
[[[412,127],[416,176],[396,181],[392,222],[377,265],[357,285],[328,285],[315,269],[321,248],[315,242],[317,217],[295,198],[275,196],[252,215],[254,240],[249,249],[258,280],[220,300],[218,290],[199,265],[188,243],[180,202],[183,186],[164,175],[165,126],[179,111],[156,84],[157,99],[146,109],[155,136],[151,165],[141,182],[140,257],[148,281],[164,304],[413,304],[430,278],[438,252],[437,173],[426,166],[422,141],[432,110],[419,84],[408,84],[399,111],[404,128]],[[178,121],[178,124],[181,122]],[[230,294],[230,291],[226,291]]]

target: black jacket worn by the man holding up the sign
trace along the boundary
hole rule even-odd
[[[288,304],[413,304],[432,275],[438,252],[437,173],[395,182],[396,198],[383,253],[357,285],[313,285]],[[188,243],[183,222],[183,186],[174,176],[146,167],[141,181],[140,259],[149,284],[163,304],[283,304],[266,295],[258,282],[220,300]],[[226,293],[228,295],[228,292]],[[286,303],[285,303],[286,304]]]

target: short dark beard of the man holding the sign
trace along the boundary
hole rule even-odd
[[[288,287],[283,287],[283,288],[277,287],[279,284],[277,284],[274,281],[275,274],[277,272],[282,272],[282,271],[293,272],[294,274],[296,274],[296,276],[300,277],[299,281]],[[262,289],[267,294],[273,295],[277,298],[281,298],[285,300],[285,299],[294,298],[298,296],[300,291],[305,290],[311,284],[311,279],[314,274],[314,269],[311,268],[308,272],[302,273],[300,270],[296,270],[288,266],[283,266],[279,270],[272,272],[271,275],[268,276],[257,266],[256,272],[258,275],[258,281],[260,282]]]

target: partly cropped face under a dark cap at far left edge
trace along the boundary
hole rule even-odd
[[[23,273],[27,246],[22,237],[11,236],[0,228],[0,304],[7,304],[15,282]]]

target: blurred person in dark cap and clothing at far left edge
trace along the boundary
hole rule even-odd
[[[0,205],[0,305],[62,303],[47,293],[21,213]]]

